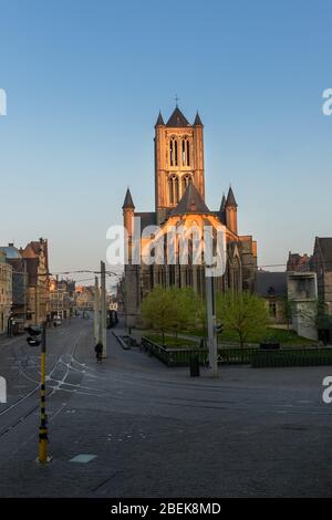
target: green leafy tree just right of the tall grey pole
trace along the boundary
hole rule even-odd
[[[263,336],[269,323],[264,300],[250,292],[218,293],[217,318],[225,331],[238,335],[241,346],[251,336]]]

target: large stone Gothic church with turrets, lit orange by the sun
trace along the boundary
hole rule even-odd
[[[218,291],[253,290],[257,271],[257,242],[251,236],[238,232],[238,205],[232,188],[227,197],[220,197],[220,208],[210,210],[205,200],[204,125],[199,114],[193,124],[176,105],[165,123],[159,113],[155,124],[155,208],[154,211],[136,211],[129,189],[123,204],[123,219],[126,229],[126,246],[133,243],[134,222],[139,217],[141,229],[162,229],[170,226],[222,227],[226,236],[227,254],[225,274],[215,279]],[[216,187],[219,189],[219,187]],[[158,227],[158,228],[157,228]],[[137,236],[137,233],[136,233]],[[152,238],[149,238],[152,237]],[[139,231],[141,250],[153,239],[153,233],[143,237]],[[174,264],[146,264],[134,262],[131,254],[125,264],[123,299],[126,324],[139,324],[141,303],[155,285],[191,287],[205,297],[205,268],[193,262]]]

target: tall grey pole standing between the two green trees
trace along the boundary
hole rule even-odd
[[[205,282],[206,282],[209,367],[212,370],[212,376],[218,377],[218,344],[217,344],[217,334],[216,334],[215,283],[214,283],[214,277],[207,277],[206,270],[205,270]]]

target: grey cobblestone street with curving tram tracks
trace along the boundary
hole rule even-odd
[[[34,461],[38,353],[22,337],[1,345],[2,497],[331,495],[332,408],[321,402],[330,367],[228,366],[218,379],[207,370],[190,378],[122,350],[112,332],[100,365],[91,332],[73,320],[50,333],[48,466]],[[72,461],[80,455],[92,457]]]

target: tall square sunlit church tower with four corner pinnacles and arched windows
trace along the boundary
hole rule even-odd
[[[155,125],[156,223],[164,222],[194,183],[205,199],[203,123],[193,125],[176,105],[167,123],[159,113]]]

